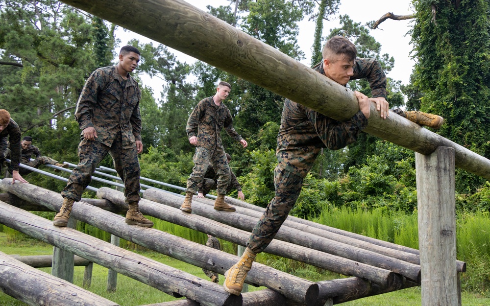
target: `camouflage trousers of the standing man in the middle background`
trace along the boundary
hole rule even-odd
[[[186,192],[196,193],[197,184],[204,179],[204,174],[206,174],[209,166],[213,166],[216,175],[218,175],[218,180],[216,180],[218,194],[226,194],[226,188],[231,181],[231,174],[224,151],[209,150],[201,146],[196,146],[194,168],[192,168],[191,176],[187,180]]]

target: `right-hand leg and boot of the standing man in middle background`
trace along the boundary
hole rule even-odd
[[[218,175],[218,179],[216,180],[216,192],[218,193],[218,197],[214,203],[214,209],[217,211],[234,212],[236,209],[224,201],[226,188],[231,182],[230,166],[228,165],[224,151],[214,152],[213,157],[211,158],[211,165]]]

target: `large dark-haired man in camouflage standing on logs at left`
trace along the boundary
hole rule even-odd
[[[82,130],[78,145],[80,162],[61,192],[63,207],[55,216],[54,225],[66,226],[73,201],[80,201],[83,190],[92,180],[92,173],[109,153],[124,182],[125,202],[129,207],[126,223],[153,226],[153,222],[139,212],[138,206],[138,153],[143,151],[139,109],[141,91],[129,72],[136,69],[139,60],[137,48],[124,46],[116,66],[99,68],[87,79],[75,110],[75,118]]]

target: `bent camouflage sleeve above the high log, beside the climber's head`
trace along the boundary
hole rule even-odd
[[[374,98],[386,98],[386,75],[377,60],[372,58],[356,58],[354,61],[354,75],[351,79],[361,78],[368,79],[371,94]]]

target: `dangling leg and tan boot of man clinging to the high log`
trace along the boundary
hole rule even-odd
[[[252,230],[242,259],[224,274],[223,287],[229,293],[240,295],[245,277],[252,267],[255,256],[264,251],[294,207],[303,178],[279,166],[274,169],[275,197]]]

